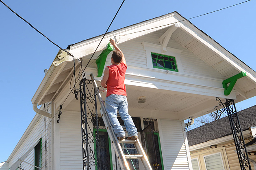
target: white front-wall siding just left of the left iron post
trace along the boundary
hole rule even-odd
[[[60,119],[60,169],[82,169],[81,119],[79,112],[63,110]]]

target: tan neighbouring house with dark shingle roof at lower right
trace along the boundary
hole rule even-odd
[[[237,114],[252,170],[256,170],[256,142],[249,132],[249,127],[256,126],[256,106]],[[188,131],[187,138],[193,170],[241,170],[228,116]]]

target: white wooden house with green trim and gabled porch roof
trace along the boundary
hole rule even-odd
[[[102,37],[100,35],[67,47],[67,51],[75,57],[77,82],[73,81],[73,58],[59,51],[32,98],[33,108],[39,114],[35,115],[7,159],[8,168],[0,170],[32,170],[34,165],[42,170],[83,168],[82,96],[80,93],[72,94],[75,93],[72,89],[74,83],[76,89],[80,83],[80,64],[76,59],[82,60],[82,69],[89,62],[85,69],[88,79],[86,96],[93,98],[90,73],[100,85],[102,78],[96,77],[95,60],[100,54],[105,54],[110,38],[116,40],[126,57],[128,69],[125,84],[129,113],[139,130],[139,138],[146,147],[153,169],[192,170],[184,120],[210,113],[218,104],[216,97],[240,102],[256,96],[256,72],[177,12],[107,33],[90,60]],[[98,65],[98,70],[102,65],[103,68],[110,65],[110,59],[111,53],[107,55],[106,63]],[[238,79],[234,89],[225,96],[222,82],[241,72],[247,76]],[[138,102],[141,96],[145,97],[142,99],[144,103]],[[95,169],[93,159],[100,156],[97,169],[119,170],[115,152],[98,115],[99,102],[96,113],[92,98],[86,100],[89,121],[85,123],[88,125],[85,137],[89,138],[90,169]],[[105,99],[105,94],[102,98]],[[37,108],[39,105],[40,109]],[[99,116],[100,127],[98,148],[94,143],[96,124],[92,121],[96,115]],[[152,138],[149,138],[149,133],[152,133]],[[148,149],[149,145],[153,146],[152,149]],[[133,147],[129,145],[127,150],[133,153]],[[135,159],[133,162],[136,169],[143,170],[141,161]]]

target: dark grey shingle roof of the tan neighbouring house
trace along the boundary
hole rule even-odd
[[[237,113],[242,131],[256,126],[256,105]],[[207,123],[187,132],[189,146],[231,135],[228,116]]]

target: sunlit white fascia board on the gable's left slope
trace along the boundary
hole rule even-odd
[[[114,38],[117,41],[117,45],[120,43],[124,43],[128,40],[132,40],[134,38],[138,38],[145,34],[149,34],[158,30],[161,30],[166,27],[170,27],[174,25],[176,19],[173,17],[174,13],[163,15],[162,17],[157,17],[155,19],[150,19],[148,21],[144,21],[142,23],[137,23],[132,26],[128,26],[126,28],[122,28],[113,32],[109,32],[104,36],[104,39],[100,43],[103,35],[85,40],[80,43],[76,43],[70,46],[70,51],[76,58],[81,58],[86,55],[89,55],[95,51],[95,47],[98,47],[97,51],[100,51],[106,47],[110,38]],[[153,28],[153,29],[152,29]]]

